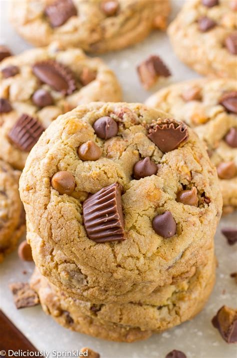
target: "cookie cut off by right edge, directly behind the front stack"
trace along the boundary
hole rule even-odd
[[[183,120],[204,140],[216,166],[223,212],[237,207],[237,86],[234,79],[195,79],[154,93],[146,104]]]

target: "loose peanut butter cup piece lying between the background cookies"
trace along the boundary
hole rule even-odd
[[[158,77],[168,77],[171,72],[159,56],[151,55],[137,66],[137,73],[145,89],[152,87]]]

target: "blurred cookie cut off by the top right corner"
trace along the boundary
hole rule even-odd
[[[205,75],[236,78],[235,0],[188,0],[168,27],[179,59]]]

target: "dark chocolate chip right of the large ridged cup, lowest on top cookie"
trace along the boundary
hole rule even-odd
[[[176,223],[170,211],[156,215],[152,221],[152,228],[163,238],[170,238],[176,233]]]

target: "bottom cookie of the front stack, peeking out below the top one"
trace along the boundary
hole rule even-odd
[[[198,267],[191,278],[160,288],[143,298],[144,302],[93,305],[72,299],[36,269],[31,287],[37,292],[44,312],[60,325],[107,340],[133,342],[194,317],[210,295],[214,278],[215,260],[211,250],[208,263]]]

